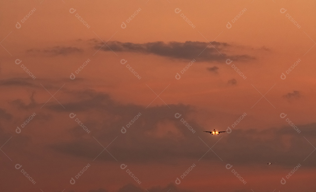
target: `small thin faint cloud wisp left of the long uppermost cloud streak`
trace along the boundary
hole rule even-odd
[[[45,49],[29,49],[26,52],[45,53],[45,54],[50,54],[52,56],[58,56],[58,55],[66,56],[66,55],[75,54],[75,53],[82,53],[83,50],[77,47],[55,46],[55,47],[50,47],[50,48],[45,48]]]

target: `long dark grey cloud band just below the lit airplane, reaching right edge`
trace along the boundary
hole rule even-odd
[[[190,122],[190,124],[192,123]],[[264,131],[255,129],[246,131],[234,130],[231,134],[226,133],[223,135],[224,137],[216,144],[213,151],[224,162],[236,165],[264,165],[273,161],[285,167],[297,165],[297,163],[315,167],[316,163],[313,159],[316,154],[312,154],[308,157],[309,159],[303,162],[314,150],[313,146],[304,137],[311,143],[315,143],[315,126],[316,123],[299,125],[301,133],[297,133],[289,126],[277,130],[268,129]],[[151,137],[144,134],[146,131],[139,123],[128,129],[128,134],[126,135],[119,133],[121,127],[118,127],[118,131],[115,134],[112,131],[106,134],[104,131],[100,131],[98,132],[100,136],[96,138],[103,146],[107,146],[116,136],[119,136],[107,150],[120,162],[158,162],[164,164],[177,164],[183,159],[199,160],[209,150],[203,141],[208,146],[212,146],[220,138],[214,138],[214,136],[203,133],[203,129],[196,129],[197,134],[191,133],[189,135],[186,134],[189,131],[184,126],[178,124],[176,127],[184,135],[183,139],[177,139],[176,135],[172,134],[164,138]],[[150,129],[153,130],[154,128]],[[104,139],[106,136],[107,139]],[[197,136],[201,137],[203,141]],[[64,154],[92,160],[103,150],[97,141],[87,139],[59,142],[51,145],[51,148]],[[215,153],[210,151],[201,160],[221,162]],[[116,162],[111,155],[102,153],[97,160]]]

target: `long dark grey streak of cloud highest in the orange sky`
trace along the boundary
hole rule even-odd
[[[155,54],[164,57],[178,58],[197,61],[211,61],[211,62],[225,62],[226,59],[234,61],[249,61],[255,59],[249,55],[229,55],[225,52],[226,48],[233,49],[232,45],[221,42],[212,42],[212,45],[206,42],[199,41],[185,41],[182,42],[169,42],[162,41],[136,44],[136,43],[123,43],[119,41],[109,41],[104,46],[103,42],[98,42],[95,49],[103,51],[126,51],[126,52],[139,52],[144,54]]]

